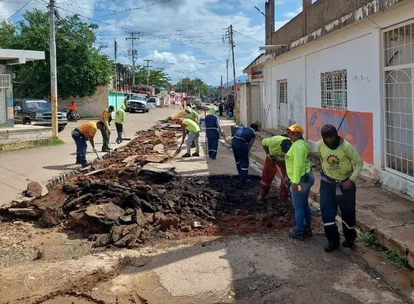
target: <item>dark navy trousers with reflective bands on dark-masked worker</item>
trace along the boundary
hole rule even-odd
[[[329,243],[339,243],[339,232],[335,220],[339,207],[345,239],[347,241],[355,241],[357,237],[357,232],[355,231],[355,196],[357,188],[354,185],[353,188],[344,190],[342,185],[339,185],[342,195],[337,195],[336,185],[335,182],[329,183],[321,180],[319,188],[322,221],[324,221],[326,238],[328,238]]]

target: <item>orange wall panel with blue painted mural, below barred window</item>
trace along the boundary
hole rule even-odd
[[[306,108],[306,138],[319,141],[322,139],[322,126],[331,124],[338,128],[345,113],[344,110]],[[365,163],[374,164],[372,113],[348,111],[339,136],[355,147]]]

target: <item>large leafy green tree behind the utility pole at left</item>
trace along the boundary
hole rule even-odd
[[[77,15],[56,22],[57,92],[60,98],[95,94],[98,85],[106,85],[112,75],[112,61],[95,48],[96,24],[84,23]],[[4,34],[4,35],[3,35]],[[14,67],[14,94],[19,97],[50,97],[49,17],[32,10],[12,26],[0,24],[1,48],[40,50],[46,58],[32,65]]]

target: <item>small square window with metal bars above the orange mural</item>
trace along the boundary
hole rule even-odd
[[[346,70],[321,73],[321,108],[347,110]]]

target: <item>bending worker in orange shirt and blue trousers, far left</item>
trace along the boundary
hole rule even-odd
[[[95,134],[97,134],[97,130],[104,128],[105,123],[103,121],[98,121],[97,123],[95,121],[89,121],[88,123],[79,125],[79,127],[72,131],[72,139],[76,144],[76,163],[81,164],[82,168],[88,166],[88,163],[86,163],[86,150],[88,148],[86,141],[89,141],[90,145],[92,145],[92,151],[97,152],[93,139]]]

